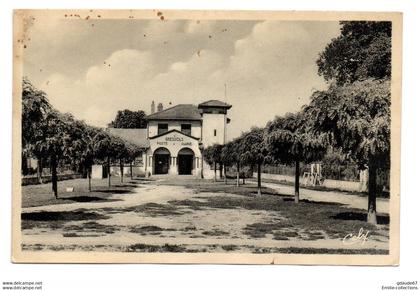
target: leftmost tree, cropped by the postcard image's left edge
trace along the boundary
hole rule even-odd
[[[52,110],[46,94],[36,89],[27,78],[22,80],[22,160],[27,155],[37,159],[38,182],[42,183],[42,156],[39,144],[46,130],[46,116]]]

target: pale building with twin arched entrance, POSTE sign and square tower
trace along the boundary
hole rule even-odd
[[[142,156],[132,167],[136,174],[211,178],[214,173],[203,159],[203,149],[213,144],[225,144],[230,108],[231,105],[225,102],[210,100],[167,109],[163,109],[160,103],[155,111],[153,102],[151,114],[146,116],[146,129],[107,130],[144,148]],[[129,169],[126,167],[125,170]],[[113,171],[118,172],[116,168]]]

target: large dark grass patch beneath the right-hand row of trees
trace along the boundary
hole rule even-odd
[[[217,183],[204,183],[204,186],[208,188],[219,187],[222,191],[225,188],[224,184]],[[296,204],[293,198],[279,194],[263,194],[259,197],[250,193],[249,189],[246,189],[249,187],[251,185],[242,186],[234,194],[209,196],[201,201],[173,200],[169,201],[169,203],[171,205],[189,207],[193,210],[241,208],[255,211],[270,211],[284,218],[284,220],[280,221],[274,220],[247,225],[244,228],[244,233],[252,238],[262,238],[266,234],[273,234],[275,231],[291,227],[304,230],[306,239],[309,240],[325,238],[324,235],[316,234],[316,231],[325,232],[329,238],[343,238],[349,233],[358,233],[360,228],[369,230],[371,234],[378,229],[377,226],[366,222],[366,212],[360,209],[345,208],[340,203],[316,202],[305,199]],[[198,189],[200,190],[200,187]],[[212,189],[211,191],[214,190]],[[388,231],[388,215],[378,214],[378,222],[383,230]]]

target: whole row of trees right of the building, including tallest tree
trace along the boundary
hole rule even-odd
[[[328,89],[314,92],[310,103],[294,114],[254,128],[226,145],[205,149],[207,162],[295,166],[295,202],[299,201],[301,163],[321,160],[328,148],[342,152],[368,169],[367,220],[376,224],[378,169],[390,167],[391,23],[341,22],[341,34],[317,60]]]

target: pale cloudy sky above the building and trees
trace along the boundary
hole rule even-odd
[[[326,83],[319,53],[335,21],[63,19],[27,30],[23,73],[51,104],[105,127],[118,110],[218,99],[228,139],[296,112]],[[226,84],[226,94],[225,94]]]

